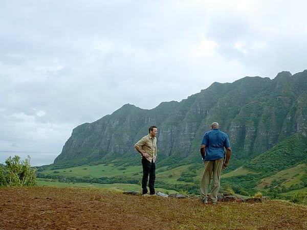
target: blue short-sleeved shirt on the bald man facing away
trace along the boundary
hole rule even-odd
[[[230,147],[228,136],[225,132],[212,129],[205,133],[202,145],[206,145],[205,160],[216,160],[224,157],[224,147]]]

